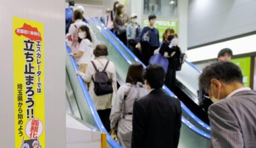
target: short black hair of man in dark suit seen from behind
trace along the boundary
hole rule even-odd
[[[144,73],[143,79],[146,79],[152,89],[161,88],[164,85],[165,71],[160,65],[149,65]]]

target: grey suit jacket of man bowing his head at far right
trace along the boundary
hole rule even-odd
[[[256,93],[239,91],[208,109],[212,147],[256,147]]]

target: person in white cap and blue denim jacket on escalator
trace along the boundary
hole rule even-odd
[[[141,54],[139,50],[135,47],[137,44],[137,38],[139,36],[140,32],[140,26],[137,23],[137,15],[135,13],[131,14],[130,17],[130,24],[127,26],[127,46],[133,52],[139,59],[141,57]]]

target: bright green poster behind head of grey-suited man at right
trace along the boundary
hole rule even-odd
[[[244,57],[232,59],[232,63],[238,65],[243,73],[243,83],[245,86],[250,87],[251,82],[251,57]]]

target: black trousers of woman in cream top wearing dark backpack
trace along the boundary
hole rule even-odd
[[[102,121],[104,127],[106,128],[106,131],[108,131],[108,133],[110,132],[110,120],[109,120],[109,116],[110,116],[110,112],[111,109],[106,109],[106,110],[97,110],[98,112],[98,116],[100,116],[100,120]]]

